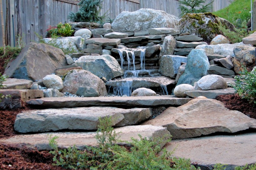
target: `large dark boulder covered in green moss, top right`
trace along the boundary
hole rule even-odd
[[[195,34],[202,37],[203,41],[210,42],[216,35],[221,34],[219,31],[221,24],[227,29],[234,31],[233,24],[210,12],[204,14],[188,13],[181,17],[175,27],[175,31],[180,31],[180,33],[189,32],[191,35]]]

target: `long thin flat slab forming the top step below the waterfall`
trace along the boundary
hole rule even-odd
[[[44,108],[88,107],[88,106],[159,106],[184,105],[190,98],[176,98],[171,95],[140,97],[45,97],[27,101],[29,105]]]

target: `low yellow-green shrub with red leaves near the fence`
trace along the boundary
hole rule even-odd
[[[47,31],[47,35],[50,37],[62,36],[68,37],[71,36],[74,30],[72,30],[72,26],[68,23],[62,24],[61,22],[57,26],[49,26]]]

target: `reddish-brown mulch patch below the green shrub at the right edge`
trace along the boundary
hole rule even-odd
[[[238,94],[219,95],[216,100],[224,103],[226,108],[230,110],[240,111],[250,118],[256,119],[256,107],[246,99],[242,99]]]

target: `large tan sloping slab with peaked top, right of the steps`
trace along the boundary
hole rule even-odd
[[[167,127],[172,139],[184,139],[256,129],[256,120],[239,111],[230,111],[217,100],[196,98],[183,106],[169,107],[141,125],[161,125]]]

